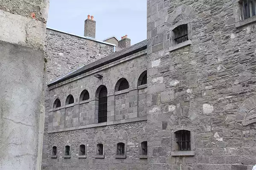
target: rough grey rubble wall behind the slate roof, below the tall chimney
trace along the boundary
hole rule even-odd
[[[113,53],[114,46],[47,28],[47,82]]]

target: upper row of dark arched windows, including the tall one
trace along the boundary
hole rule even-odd
[[[147,71],[144,71],[139,79],[138,79],[138,85],[145,85],[147,84]],[[125,89],[129,88],[129,82],[125,78],[121,78],[117,81],[116,86],[115,86],[115,91],[122,91]],[[98,122],[107,122],[107,112],[108,112],[108,90],[106,86],[101,85],[97,91],[96,91],[96,96],[99,99],[99,108],[98,108]],[[89,92],[87,90],[84,90],[81,92],[79,101],[85,101],[90,99]],[[70,94],[67,96],[66,105],[70,105],[74,103],[74,97]],[[59,108],[61,107],[61,101],[60,99],[56,99],[55,102],[53,103],[53,108]]]

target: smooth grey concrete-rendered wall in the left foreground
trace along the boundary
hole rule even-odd
[[[41,169],[48,3],[0,2],[0,170]]]

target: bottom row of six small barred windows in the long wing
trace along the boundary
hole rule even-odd
[[[65,146],[64,155],[70,156],[70,152],[71,152],[70,146],[69,145]],[[125,150],[124,143],[119,142],[118,144],[116,144],[116,155],[117,156],[118,155],[123,156],[126,154],[125,152],[126,152],[126,150]],[[104,154],[104,146],[103,146],[103,144],[99,143],[96,146],[96,155],[101,156],[103,154]],[[79,156],[85,156],[85,155],[86,155],[85,145],[81,144],[79,146]],[[141,142],[140,155],[143,155],[143,156],[148,155],[148,142],[147,141]],[[56,158],[56,156],[57,156],[57,147],[56,146],[52,147],[52,156],[55,156],[54,158]]]

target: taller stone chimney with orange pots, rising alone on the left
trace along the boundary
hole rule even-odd
[[[84,37],[95,38],[96,34],[96,21],[93,20],[93,16],[88,15],[84,21]]]

